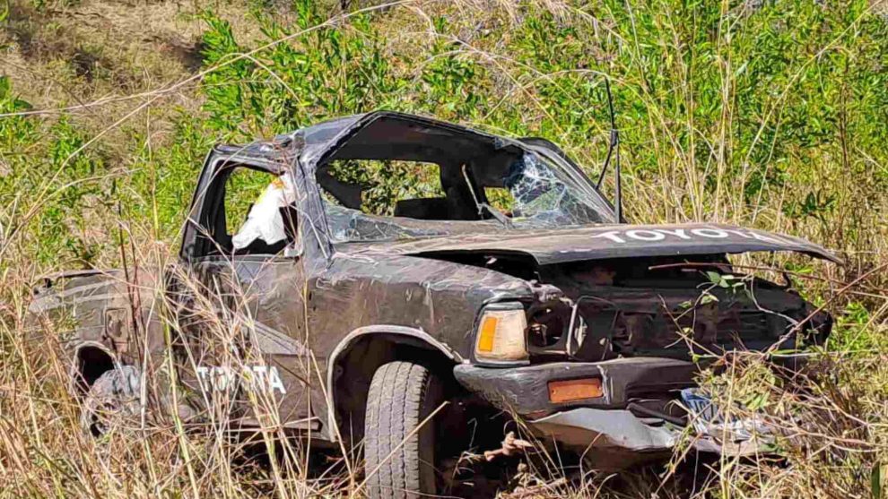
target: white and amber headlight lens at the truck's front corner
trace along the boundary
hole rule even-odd
[[[474,357],[481,361],[527,360],[527,316],[519,303],[487,305],[478,321]]]

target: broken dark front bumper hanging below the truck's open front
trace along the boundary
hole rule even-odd
[[[537,436],[583,452],[598,468],[625,468],[667,455],[681,443],[689,443],[698,452],[733,456],[764,452],[770,445],[768,438],[735,440],[725,433],[698,433],[683,425],[680,418],[639,415],[638,410],[630,410],[635,400],[674,398],[677,391],[694,386],[696,372],[690,362],[653,357],[515,368],[454,368],[457,381],[468,390],[522,417]],[[590,376],[601,378],[602,397],[562,404],[549,401],[550,381]]]

